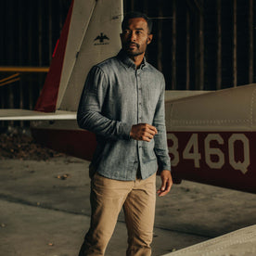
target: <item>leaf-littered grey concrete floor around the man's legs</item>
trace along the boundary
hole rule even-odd
[[[88,162],[0,160],[0,256],[75,256],[89,225]],[[160,178],[158,178],[160,186]],[[153,255],[256,224],[255,195],[184,181],[158,198]],[[121,213],[107,256],[125,255]]]

